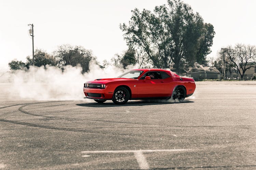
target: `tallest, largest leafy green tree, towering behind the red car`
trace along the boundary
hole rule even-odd
[[[129,24],[120,24],[129,47],[141,47],[148,60],[158,68],[174,63],[177,72],[199,62],[205,64],[214,37],[212,24],[204,23],[198,13],[180,0],[168,0],[168,6],[132,10]]]

